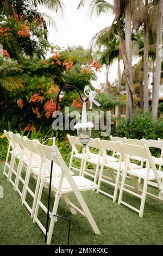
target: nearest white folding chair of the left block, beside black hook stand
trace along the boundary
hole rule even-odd
[[[47,161],[52,160],[52,151],[54,153],[53,161],[61,167],[60,176],[52,178],[52,192],[55,194],[55,200],[54,200],[53,210],[52,212],[49,213],[51,218],[49,219],[50,225],[49,225],[48,236],[47,236],[47,244],[51,243],[53,228],[55,223],[55,216],[57,215],[57,209],[58,209],[60,197],[65,200],[72,214],[76,214],[76,211],[78,211],[80,214],[82,214],[82,216],[87,218],[95,234],[100,234],[100,231],[96,225],[96,222],[93,220],[91,212],[87,208],[84,198],[82,197],[82,194],[80,192],[80,191],[97,189],[98,186],[94,182],[87,180],[82,176],[72,176],[66,166],[64,159],[62,159],[62,156],[56,146],[48,147],[46,145],[38,144],[38,147],[42,151],[42,154],[45,156],[46,161],[43,167],[43,173],[42,173],[42,178],[40,183],[39,194],[37,197],[37,203],[36,203],[33,222],[36,222],[39,225],[39,227],[41,228],[44,234],[46,233],[46,229],[45,227],[43,227],[43,224],[41,223],[41,221],[37,216],[38,216],[38,211],[40,207],[47,214],[47,208],[41,202],[41,195],[42,195],[43,184],[46,183],[46,185],[49,186],[49,178],[46,178],[45,172],[47,169]],[[50,170],[48,171],[50,172]],[[74,192],[80,206],[82,207],[82,210],[80,210],[76,205],[70,202],[70,199],[67,196],[67,193],[70,193],[70,192]]]

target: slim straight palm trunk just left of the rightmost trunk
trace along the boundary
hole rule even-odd
[[[145,2],[145,45],[144,45],[144,70],[145,70],[145,83],[144,83],[144,112],[148,111],[149,102],[148,102],[148,0]]]

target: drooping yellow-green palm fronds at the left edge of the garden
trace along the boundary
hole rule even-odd
[[[0,102],[0,105],[8,101],[8,90],[23,87],[22,78],[15,76],[15,73],[21,70],[21,66],[17,64],[16,60],[0,58],[0,88],[4,95],[4,99]]]

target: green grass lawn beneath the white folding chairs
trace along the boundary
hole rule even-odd
[[[30,219],[30,214],[21,205],[20,196],[13,190],[3,176],[4,163],[0,164],[0,185],[3,186],[4,198],[0,199],[0,244],[1,245],[45,245],[45,235],[36,223]],[[35,181],[31,180],[34,187]],[[105,187],[107,190],[112,188]],[[154,190],[154,188],[149,188]],[[70,245],[162,245],[163,244],[163,204],[152,198],[146,199],[143,218],[126,206],[112,203],[103,194],[93,191],[82,192],[89,209],[95,218],[101,235],[94,235],[85,218],[72,216],[65,203],[60,200],[58,214],[71,219]],[[43,190],[42,202],[47,204],[48,190]],[[139,199],[125,195],[128,202],[139,206]],[[70,198],[76,203],[73,194]],[[28,198],[30,201],[30,198]],[[51,205],[54,197],[51,197]],[[46,214],[39,212],[43,222]],[[60,220],[55,224],[52,245],[66,245],[68,223]]]

